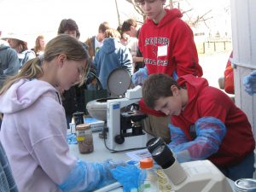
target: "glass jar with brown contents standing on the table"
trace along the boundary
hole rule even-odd
[[[77,141],[79,143],[79,152],[89,154],[93,152],[93,137],[89,124],[76,125]]]

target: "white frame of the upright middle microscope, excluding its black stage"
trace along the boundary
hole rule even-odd
[[[124,98],[107,101],[107,127],[108,130],[106,145],[111,150],[125,150],[130,148],[144,148],[148,142],[149,135],[140,129],[140,133],[135,133],[131,129],[121,128],[121,109],[133,103],[138,103],[142,98],[142,87],[137,86],[127,90]],[[133,113],[133,112],[130,112]],[[128,115],[130,113],[127,113]],[[136,130],[136,129],[134,129]]]

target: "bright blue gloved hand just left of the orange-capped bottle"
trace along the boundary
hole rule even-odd
[[[137,166],[117,166],[111,170],[113,178],[123,185],[123,191],[130,192],[131,189],[138,189],[138,178],[140,170]]]

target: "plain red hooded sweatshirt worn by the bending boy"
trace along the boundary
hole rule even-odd
[[[178,116],[172,116],[172,124],[180,127],[189,138],[189,127],[202,117],[220,119],[227,128],[226,136],[218,152],[208,159],[218,166],[231,166],[241,162],[253,152],[255,140],[252,127],[245,113],[223,91],[208,85],[207,80],[186,75],[177,80],[186,87],[189,102]]]

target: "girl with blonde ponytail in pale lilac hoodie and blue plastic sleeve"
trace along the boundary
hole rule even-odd
[[[113,181],[110,162],[87,163],[70,154],[58,89],[84,83],[88,55],[59,35],[0,91],[0,140],[21,192],[91,191]]]

